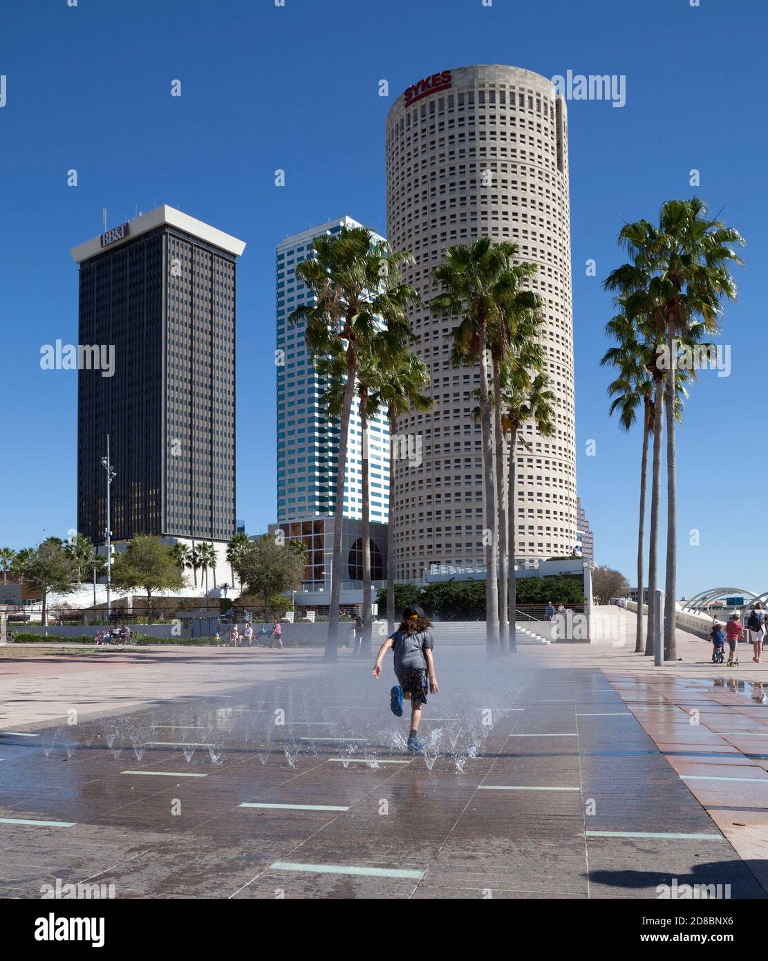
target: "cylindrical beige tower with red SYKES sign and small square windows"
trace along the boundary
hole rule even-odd
[[[433,409],[398,421],[419,456],[393,463],[396,578],[430,564],[484,566],[483,452],[472,419],[477,369],[452,368],[449,334],[433,317],[434,266],[446,247],[489,236],[518,244],[538,266],[555,432],[521,431],[517,454],[517,562],[571,554],[576,530],[571,238],[565,102],[545,77],[512,66],[468,66],[418,81],[386,118],[387,237],[415,262],[404,277],[424,307],[411,313],[414,350],[430,368]],[[397,438],[393,439],[394,441]]]

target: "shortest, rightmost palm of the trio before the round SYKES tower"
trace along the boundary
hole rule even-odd
[[[528,442],[520,435],[520,428],[527,423],[541,437],[549,437],[555,427],[555,394],[549,389],[549,381],[542,373],[544,349],[541,345],[543,318],[533,310],[521,317],[512,340],[510,356],[500,367],[500,409],[502,427],[509,435],[508,453],[508,621],[509,653],[517,651],[515,630],[517,614],[517,581],[515,578],[515,554],[517,524],[515,514],[517,442]]]

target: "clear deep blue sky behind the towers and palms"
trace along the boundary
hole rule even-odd
[[[597,560],[634,582],[640,437],[607,418],[598,365],[623,219],[698,192],[748,240],[724,343],[680,431],[681,594],[768,589],[764,42],[757,0],[4,0],[0,8],[0,544],[74,528],[77,340],[71,246],[167,203],[247,241],[238,267],[237,514],[275,511],[274,248],[348,213],[385,230],[384,117],[411,83],[472,63],[623,74],[627,104],[569,106],[579,492]],[[170,95],[173,80],[182,96]],[[390,97],[378,95],[386,79]],[[66,185],[66,172],[78,185]],[[274,171],[285,170],[285,187]],[[597,278],[585,275],[596,259]],[[596,456],[586,443],[596,442]],[[750,450],[750,445],[752,450]],[[745,456],[746,459],[740,459]],[[689,545],[688,531],[701,544]]]

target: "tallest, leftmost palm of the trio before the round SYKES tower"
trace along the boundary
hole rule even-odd
[[[493,432],[488,396],[488,332],[501,323],[501,302],[513,287],[509,260],[515,244],[494,243],[488,237],[468,246],[459,244],[443,252],[443,261],[433,271],[443,292],[433,297],[430,309],[438,317],[462,320],[453,332],[453,361],[478,364],[480,371],[480,416],[483,433],[483,482],[485,489],[485,645],[487,653],[499,653],[499,608],[497,589],[497,510],[493,468]]]

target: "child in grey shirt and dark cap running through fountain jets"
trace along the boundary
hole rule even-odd
[[[421,709],[427,703],[428,687],[431,694],[437,693],[431,627],[421,607],[407,607],[400,627],[386,638],[373,667],[373,676],[378,680],[384,654],[392,648],[398,683],[389,692],[389,707],[396,717],[402,717],[403,699],[410,701],[409,751],[424,751],[424,744],[418,739]]]

